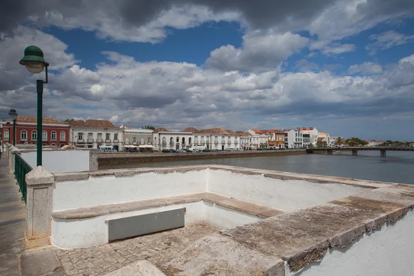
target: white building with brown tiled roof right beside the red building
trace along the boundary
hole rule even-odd
[[[114,146],[117,150],[124,147],[123,130],[108,120],[70,120],[70,146],[79,148],[98,148]]]

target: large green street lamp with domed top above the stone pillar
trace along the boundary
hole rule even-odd
[[[46,67],[46,81],[38,79],[37,87],[37,166],[41,166],[41,124],[42,124],[42,105],[43,105],[43,83],[48,83],[49,63],[43,58],[42,50],[37,46],[28,46],[24,49],[24,57],[20,59],[21,65],[32,74],[43,72]]]

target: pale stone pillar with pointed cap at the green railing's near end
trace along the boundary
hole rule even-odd
[[[50,244],[55,177],[38,166],[26,175],[26,248]]]

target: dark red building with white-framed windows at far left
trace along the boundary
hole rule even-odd
[[[7,124],[9,122],[10,124]],[[3,144],[13,142],[13,120],[1,121]],[[16,145],[37,144],[37,117],[19,116],[16,121]],[[43,146],[66,146],[69,144],[69,124],[55,118],[42,119],[41,144]]]

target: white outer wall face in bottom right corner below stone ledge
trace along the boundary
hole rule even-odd
[[[414,212],[393,226],[363,235],[348,248],[330,249],[322,262],[306,267],[297,276],[414,275]],[[293,275],[286,271],[286,275]]]

